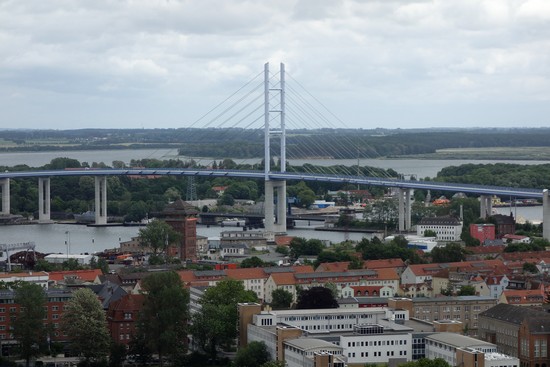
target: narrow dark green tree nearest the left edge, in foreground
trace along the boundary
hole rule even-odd
[[[39,346],[46,342],[46,295],[38,284],[25,282],[15,289],[14,302],[19,304],[19,312],[13,322],[13,335],[28,367],[30,359],[39,355]]]

